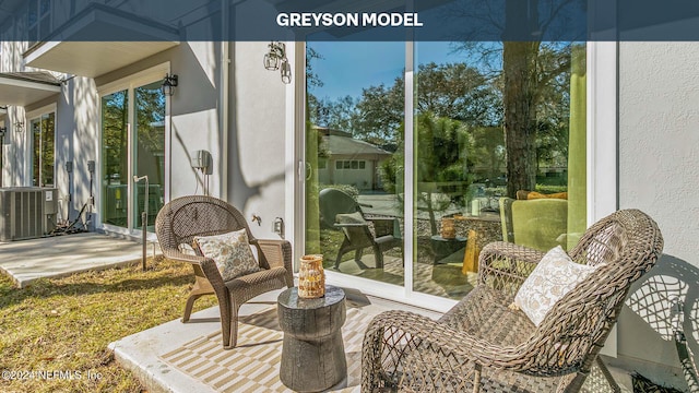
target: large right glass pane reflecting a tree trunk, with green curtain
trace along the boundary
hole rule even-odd
[[[413,289],[459,299],[486,243],[584,230],[584,46],[415,45]]]

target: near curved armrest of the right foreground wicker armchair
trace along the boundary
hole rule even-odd
[[[477,365],[521,371],[528,366],[523,349],[479,340],[417,313],[386,311],[371,320],[364,336],[362,391],[380,391],[384,382],[395,385],[403,373],[466,379]]]

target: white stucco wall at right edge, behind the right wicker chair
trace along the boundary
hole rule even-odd
[[[619,44],[619,207],[651,215],[665,246],[657,266],[631,290],[618,353],[639,360],[644,376],[666,381],[675,371],[668,366],[679,366],[668,335],[670,298],[685,302],[695,349],[699,338],[697,70],[699,43]]]

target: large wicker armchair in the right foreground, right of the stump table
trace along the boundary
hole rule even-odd
[[[367,329],[362,391],[577,392],[632,282],[662,251],[656,224],[637,210],[616,212],[590,227],[570,257],[596,265],[534,324],[511,305],[544,253],[512,243],[486,246],[478,285],[440,320],[404,311],[377,315]],[[618,385],[613,384],[618,391]]]

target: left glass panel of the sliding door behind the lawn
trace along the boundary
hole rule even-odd
[[[129,92],[102,97],[103,223],[128,227]]]

